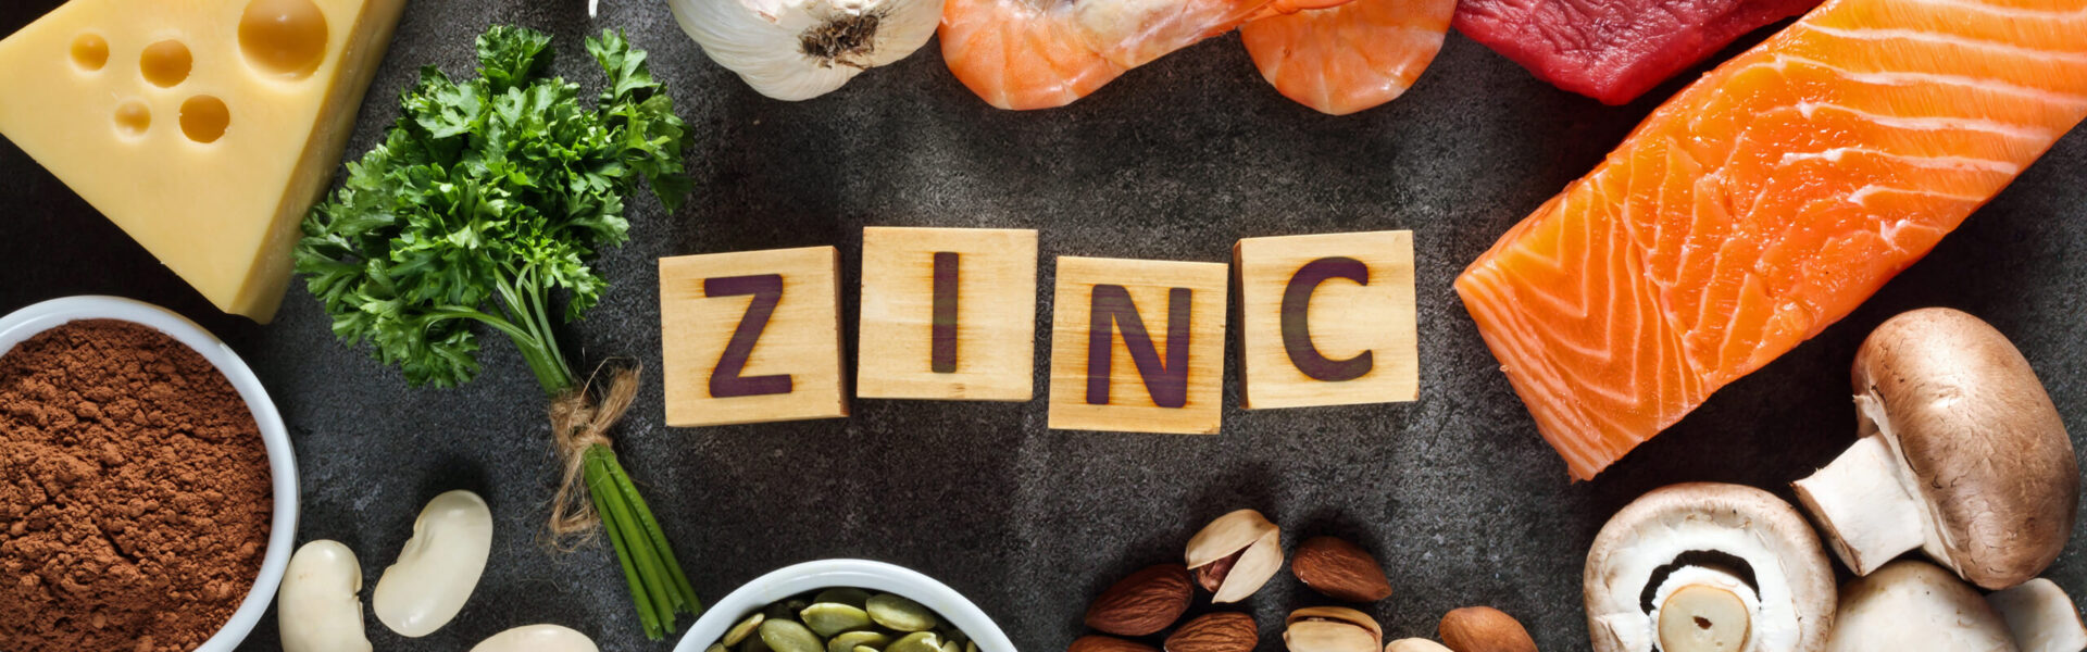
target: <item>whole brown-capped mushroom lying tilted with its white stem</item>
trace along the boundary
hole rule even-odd
[[[1870,575],[1920,548],[1966,581],[2006,589],[2064,550],[2079,464],[2022,353],[1953,309],[1891,318],[1855,353],[1860,439],[1797,499],[1841,562]]]

